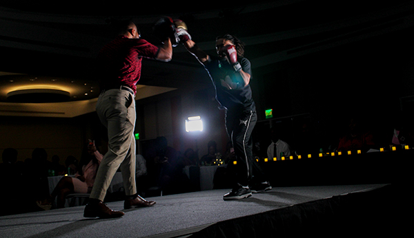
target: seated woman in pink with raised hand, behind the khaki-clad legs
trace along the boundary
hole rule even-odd
[[[92,190],[103,155],[97,151],[95,142],[90,142],[88,147],[85,148],[87,150],[83,149],[81,161],[79,162],[81,171],[77,172],[75,177],[62,177],[50,195],[50,202],[57,198],[57,208],[63,208],[65,206],[66,196],[68,194],[90,193]]]

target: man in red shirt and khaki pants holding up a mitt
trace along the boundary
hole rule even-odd
[[[173,25],[170,30],[172,35],[175,34]],[[135,184],[135,94],[141,76],[142,58],[171,60],[170,38],[166,36],[163,43],[157,47],[141,39],[137,25],[126,21],[119,25],[117,38],[99,52],[101,94],[97,101],[97,114],[108,129],[108,152],[99,165],[84,217],[112,218],[124,215],[103,204],[112,177],[119,167],[126,193],[124,208],[155,204],[140,197]]]

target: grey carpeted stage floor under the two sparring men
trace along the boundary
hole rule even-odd
[[[238,201],[224,201],[227,189],[152,197],[150,208],[124,210],[124,202],[110,202],[124,210],[119,219],[87,219],[84,206],[0,217],[0,236],[6,237],[189,237],[215,224],[288,208],[335,196],[364,193],[386,184],[273,188]]]

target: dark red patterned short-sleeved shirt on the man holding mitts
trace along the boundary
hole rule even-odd
[[[118,36],[98,54],[101,89],[127,86],[137,93],[142,58],[155,58],[159,48],[144,39]]]

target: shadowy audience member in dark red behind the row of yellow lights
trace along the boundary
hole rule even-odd
[[[348,128],[344,136],[339,138],[338,151],[361,150],[368,151],[375,147],[373,135],[362,128],[361,122],[353,117],[348,122]]]

